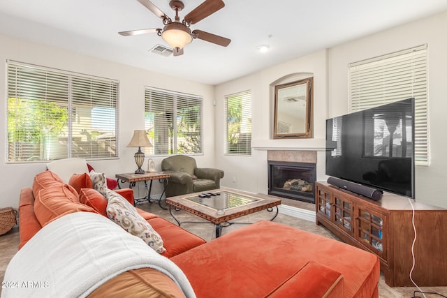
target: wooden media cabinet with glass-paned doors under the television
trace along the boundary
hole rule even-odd
[[[413,204],[413,207],[411,206]],[[383,193],[379,201],[316,182],[316,224],[342,241],[379,256],[392,287],[447,285],[447,209]]]

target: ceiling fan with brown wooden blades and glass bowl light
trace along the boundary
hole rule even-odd
[[[224,38],[222,36],[217,36],[212,33],[208,33],[202,30],[189,29],[191,24],[196,24],[201,20],[205,19],[209,15],[217,12],[217,10],[223,8],[225,3],[222,0],[205,0],[199,6],[194,8],[190,13],[184,16],[184,20],[180,22],[179,11],[184,8],[184,4],[181,0],[171,0],[169,6],[175,10],[175,19],[171,20],[166,13],[163,13],[159,8],[157,8],[154,3],[149,0],[138,0],[143,6],[151,10],[154,15],[160,17],[165,25],[163,29],[152,28],[152,29],[139,29],[131,31],[121,31],[118,32],[122,36],[133,36],[145,33],[157,33],[161,36],[163,40],[166,41],[171,47],[173,47],[174,56],[179,56],[183,54],[183,47],[193,40],[193,38],[198,38],[205,40],[210,43],[215,43],[216,45],[221,45],[226,47],[230,44],[231,40]]]

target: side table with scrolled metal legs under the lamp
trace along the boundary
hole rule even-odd
[[[149,191],[147,192],[147,196],[142,198],[136,198],[133,200],[133,205],[136,205],[137,203],[147,200],[147,202],[152,203],[151,200],[151,191],[152,191],[152,181],[159,179],[160,183],[163,184],[163,192],[160,195],[160,198],[157,200],[159,201],[159,206],[162,209],[167,210],[168,208],[161,206],[161,198],[163,198],[163,194],[165,193],[165,184],[163,181],[165,179],[168,179],[170,177],[169,174],[165,173],[157,173],[157,172],[145,172],[144,174],[135,174],[135,173],[124,173],[124,174],[115,174],[115,177],[117,178],[118,187],[121,188],[119,185],[119,181],[122,183],[128,182],[129,188],[133,188],[137,182],[145,182],[145,187],[147,188],[147,181],[149,181]]]

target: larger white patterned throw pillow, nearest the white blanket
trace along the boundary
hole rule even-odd
[[[127,202],[121,195],[115,191],[107,190],[105,193],[107,198],[107,216],[120,225],[124,230],[141,238],[147,245],[154,249],[157,253],[164,253],[166,248],[163,247],[163,239],[154,228],[142,218],[138,211]]]

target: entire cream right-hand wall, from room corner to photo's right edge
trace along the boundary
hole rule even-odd
[[[325,119],[348,112],[348,68],[354,61],[428,44],[430,92],[431,165],[416,167],[416,200],[447,208],[447,13],[376,33],[300,57],[285,64],[216,87],[217,165],[226,171],[224,186],[253,192],[267,192],[267,149],[315,149],[317,179],[325,180]],[[291,73],[314,73],[314,139],[272,140],[272,91],[269,85]],[[253,154],[251,157],[224,155],[226,94],[251,89],[253,92]]]

